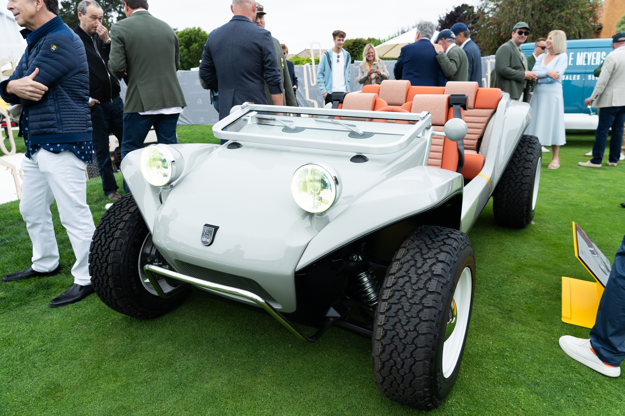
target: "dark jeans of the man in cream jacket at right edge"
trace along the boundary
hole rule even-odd
[[[594,132],[594,146],[592,146],[591,163],[601,164],[603,153],[606,151],[607,131],[612,127],[610,139],[610,156],[612,163],[621,157],[621,142],[623,138],[623,123],[625,123],[625,106],[601,107],[599,109],[599,126]]]

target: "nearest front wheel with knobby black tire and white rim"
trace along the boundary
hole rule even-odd
[[[373,369],[382,394],[421,410],[441,404],[460,370],[474,290],[466,234],[433,225],[412,230],[387,270],[374,318]]]

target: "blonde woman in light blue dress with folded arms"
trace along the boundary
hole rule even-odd
[[[567,66],[566,34],[551,31],[547,35],[547,53],[539,56],[532,68],[538,76],[538,84],[529,100],[532,121],[525,131],[538,137],[542,146],[551,146],[553,156],[547,169],[560,167],[558,152],[560,146],[566,144],[562,76]]]

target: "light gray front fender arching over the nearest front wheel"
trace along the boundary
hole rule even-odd
[[[296,270],[362,235],[436,206],[462,186],[461,174],[427,166],[412,167],[381,182],[312,237]]]

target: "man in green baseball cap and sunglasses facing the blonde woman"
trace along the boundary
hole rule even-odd
[[[526,22],[518,22],[512,27],[512,39],[499,46],[495,54],[494,79],[491,74],[491,87],[501,88],[517,101],[521,99],[527,80],[537,77],[527,67],[527,58],[521,51],[527,36],[529,25]]]

